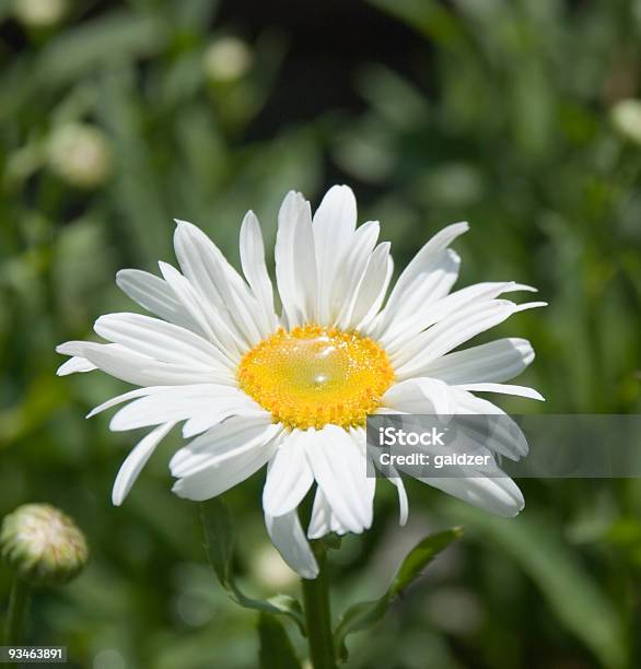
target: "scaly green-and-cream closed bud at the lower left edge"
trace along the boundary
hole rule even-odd
[[[30,585],[61,585],[82,571],[89,549],[69,516],[49,504],[24,504],[2,521],[0,555]]]

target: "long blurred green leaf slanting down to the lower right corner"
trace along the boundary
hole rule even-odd
[[[605,667],[626,666],[623,625],[613,602],[581,566],[553,519],[534,510],[505,521],[458,503],[447,514],[482,532],[518,563],[547,598],[559,622],[580,638]]]

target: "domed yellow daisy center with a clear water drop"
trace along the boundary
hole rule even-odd
[[[241,388],[275,421],[306,430],[364,425],[394,380],[387,353],[356,332],[282,328],[243,356]]]

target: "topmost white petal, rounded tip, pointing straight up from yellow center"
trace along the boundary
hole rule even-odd
[[[348,186],[330,188],[314,214],[313,232],[318,268],[319,321],[331,316],[336,273],[352,244],[357,226],[357,200]]]

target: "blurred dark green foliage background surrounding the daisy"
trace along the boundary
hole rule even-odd
[[[92,550],[70,587],[37,595],[32,643],[94,669],[257,664],[255,614],[228,600],[196,506],[170,493],[177,439],[112,507],[136,435],[83,415],[124,385],[55,376],[56,343],[133,308],[118,268],[173,261],[174,216],[236,262],[247,209],[270,244],[287,190],[317,203],[348,183],[397,267],[469,220],[459,285],[513,279],[550,303],[491,333],[532,340],[518,383],[547,398],[502,406],[639,411],[639,0],[4,0],[0,21],[0,515],[54,503]],[[237,572],[248,591],[295,592],[261,483],[226,495]],[[430,531],[466,536],[350,638],[350,667],[641,667],[641,482],[522,483],[512,521],[409,483],[401,530],[380,482],[374,529],[334,554],[336,612],[381,594]],[[0,609],[8,591],[0,571]]]

